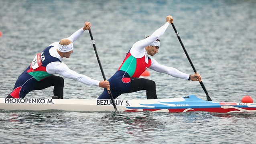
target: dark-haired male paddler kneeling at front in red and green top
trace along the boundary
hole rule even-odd
[[[189,75],[173,67],[161,65],[153,58],[148,57],[148,55],[154,56],[158,53],[160,47],[160,40],[158,38],[165,33],[165,30],[171,23],[171,18],[172,16],[167,16],[166,23],[163,26],[154,31],[149,37],[132,45],[118,71],[108,80],[114,99],[122,93],[132,93],[140,90],[146,90],[147,99],[157,99],[155,82],[149,79],[139,78],[148,68],[181,79],[192,81],[201,80],[199,74]],[[107,89],[104,89],[98,99],[110,99]]]

